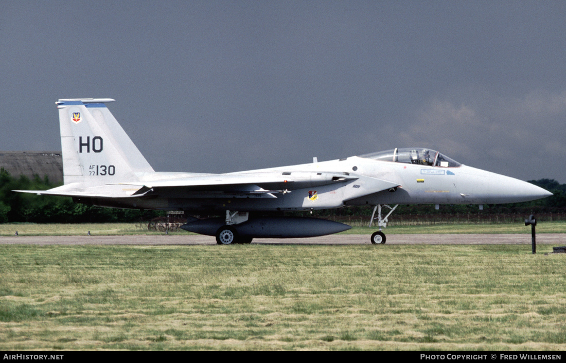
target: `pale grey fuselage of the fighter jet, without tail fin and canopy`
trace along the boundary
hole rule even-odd
[[[329,172],[331,170],[332,172]],[[160,180],[160,174],[156,172],[147,178],[142,175],[140,182],[145,179]],[[166,180],[174,176],[179,181],[190,180],[194,175],[170,172],[163,174]],[[320,210],[348,205],[378,204],[501,204],[528,201],[550,195],[544,189],[526,181],[466,165],[434,167],[355,156],[341,160],[213,174],[213,176],[222,178],[226,175],[242,174],[277,175],[281,179],[279,183],[257,183],[258,186],[278,190],[292,187],[292,191],[273,197],[250,194],[245,191],[211,192],[207,191],[207,188],[188,192],[179,187],[159,193],[149,193],[148,196],[135,200],[100,197],[76,199],[80,202],[117,208],[221,212],[226,209],[239,211]],[[301,179],[294,180],[295,175],[300,175]],[[342,176],[345,180],[325,184],[328,178],[340,179]],[[366,184],[371,184],[373,179],[387,180],[397,185],[357,197],[355,192],[366,187]],[[299,184],[302,188],[297,188]],[[371,185],[368,185],[368,188],[371,188]]]

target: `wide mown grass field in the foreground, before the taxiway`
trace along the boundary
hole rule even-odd
[[[516,245],[1,245],[0,349],[558,351],[565,258]]]

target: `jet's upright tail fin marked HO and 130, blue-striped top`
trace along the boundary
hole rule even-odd
[[[63,180],[85,186],[139,180],[153,168],[106,107],[111,98],[71,98],[57,102]]]

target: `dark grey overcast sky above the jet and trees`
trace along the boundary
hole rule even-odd
[[[422,145],[566,182],[564,2],[0,2],[3,150],[111,97],[156,170]],[[33,26],[30,26],[33,24]]]

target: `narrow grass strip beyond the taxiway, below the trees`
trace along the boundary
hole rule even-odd
[[[342,234],[371,235],[377,227],[353,227]],[[148,231],[145,223],[83,223],[83,224],[36,224],[36,223],[5,223],[0,224],[0,236],[13,236],[18,231],[20,236],[63,236],[86,235],[161,235],[164,232]],[[524,223],[496,224],[435,224],[431,226],[390,226],[385,234],[470,234],[470,233],[522,233],[530,234],[530,226]],[[171,231],[170,233],[188,234],[186,231]],[[542,222],[537,226],[537,233],[566,233],[566,222]]]

